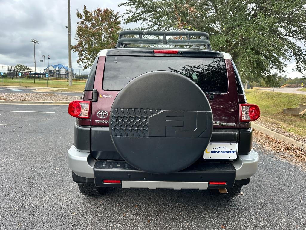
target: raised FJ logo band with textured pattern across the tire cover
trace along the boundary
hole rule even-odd
[[[207,129],[203,111],[167,111],[160,109],[113,109],[110,125],[118,137],[201,137]]]

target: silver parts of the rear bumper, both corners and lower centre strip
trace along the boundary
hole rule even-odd
[[[90,157],[89,152],[81,152],[77,150],[74,145],[68,150],[68,164],[69,168],[80,177],[94,178],[93,166],[88,163],[88,157]],[[236,180],[248,179],[254,175],[258,169],[259,156],[254,150],[248,155],[240,155],[233,166],[236,168]],[[205,189],[205,184],[195,184],[195,183],[207,183],[207,182],[148,182],[148,181],[122,181],[122,187],[127,188],[161,188],[160,186],[168,186],[165,183],[181,183],[181,184],[171,184],[171,188],[180,189],[193,188],[195,186],[199,189]],[[191,184],[193,183],[193,184]],[[125,185],[124,185],[125,184]],[[207,188],[206,188],[207,189]]]

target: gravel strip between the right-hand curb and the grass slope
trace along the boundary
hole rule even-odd
[[[288,124],[282,123],[280,121],[276,121],[276,120],[273,120],[271,118],[267,118],[267,117],[263,117],[263,116],[261,116],[257,121],[252,121],[252,122],[254,122],[257,125],[260,125],[260,126],[263,126],[265,128],[268,128],[268,129],[270,129],[270,130],[272,130],[274,132],[282,134],[284,136],[288,136],[288,137],[290,137],[290,138],[292,138],[294,140],[297,140],[299,142],[306,143],[306,136],[299,136],[299,135],[297,135],[295,133],[288,132],[288,131],[285,131],[282,128],[279,128],[279,126],[283,125],[283,126],[287,126],[289,128],[299,129],[299,128],[294,127],[292,125],[288,125]],[[304,129],[300,128],[300,130],[302,132],[304,132],[305,135],[306,135],[306,132],[305,132]]]

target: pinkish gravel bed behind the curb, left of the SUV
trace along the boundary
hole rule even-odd
[[[5,101],[44,101],[44,102],[65,102],[78,100],[80,97],[67,96],[53,93],[40,94],[3,94],[0,93],[0,100]]]

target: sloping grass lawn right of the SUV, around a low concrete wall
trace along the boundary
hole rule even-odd
[[[297,135],[306,135],[305,118],[282,113],[285,108],[298,107],[299,103],[305,104],[306,95],[269,92],[263,90],[245,90],[245,95],[248,103],[259,106],[260,114],[262,116],[282,122],[282,124],[279,125],[280,128]]]

